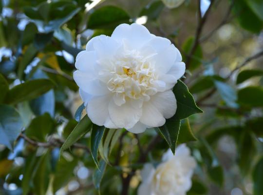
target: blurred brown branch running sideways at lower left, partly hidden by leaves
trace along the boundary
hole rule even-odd
[[[20,138],[23,138],[26,142],[28,142],[29,144],[33,145],[33,146],[36,146],[36,147],[43,147],[43,148],[56,148],[56,147],[61,147],[64,143],[63,140],[61,139],[51,139],[49,140],[48,142],[39,142],[39,141],[36,141],[34,139],[31,139],[29,137],[27,137],[26,135],[24,134],[20,134],[19,135]],[[78,148],[78,149],[83,149],[83,150],[86,150],[88,153],[90,153],[90,149],[83,145],[83,144],[79,144],[79,143],[75,143],[72,145],[73,148]]]

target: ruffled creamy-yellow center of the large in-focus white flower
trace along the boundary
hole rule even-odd
[[[150,63],[136,51],[128,51],[115,57],[110,62],[111,78],[107,82],[108,89],[123,103],[131,99],[149,101],[150,96],[157,93],[159,83],[156,83],[154,64]]]

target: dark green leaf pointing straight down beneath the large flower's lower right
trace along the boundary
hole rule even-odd
[[[172,153],[175,153],[176,142],[179,136],[180,120],[167,119],[162,127],[157,127],[162,137],[165,138]]]

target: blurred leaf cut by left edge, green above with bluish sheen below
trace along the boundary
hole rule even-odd
[[[22,119],[19,113],[11,106],[0,104],[0,144],[10,150],[22,130]]]

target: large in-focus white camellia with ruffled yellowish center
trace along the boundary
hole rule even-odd
[[[159,127],[175,114],[172,87],[185,63],[169,39],[133,23],[91,39],[76,57],[74,79],[93,123],[132,133]]]

